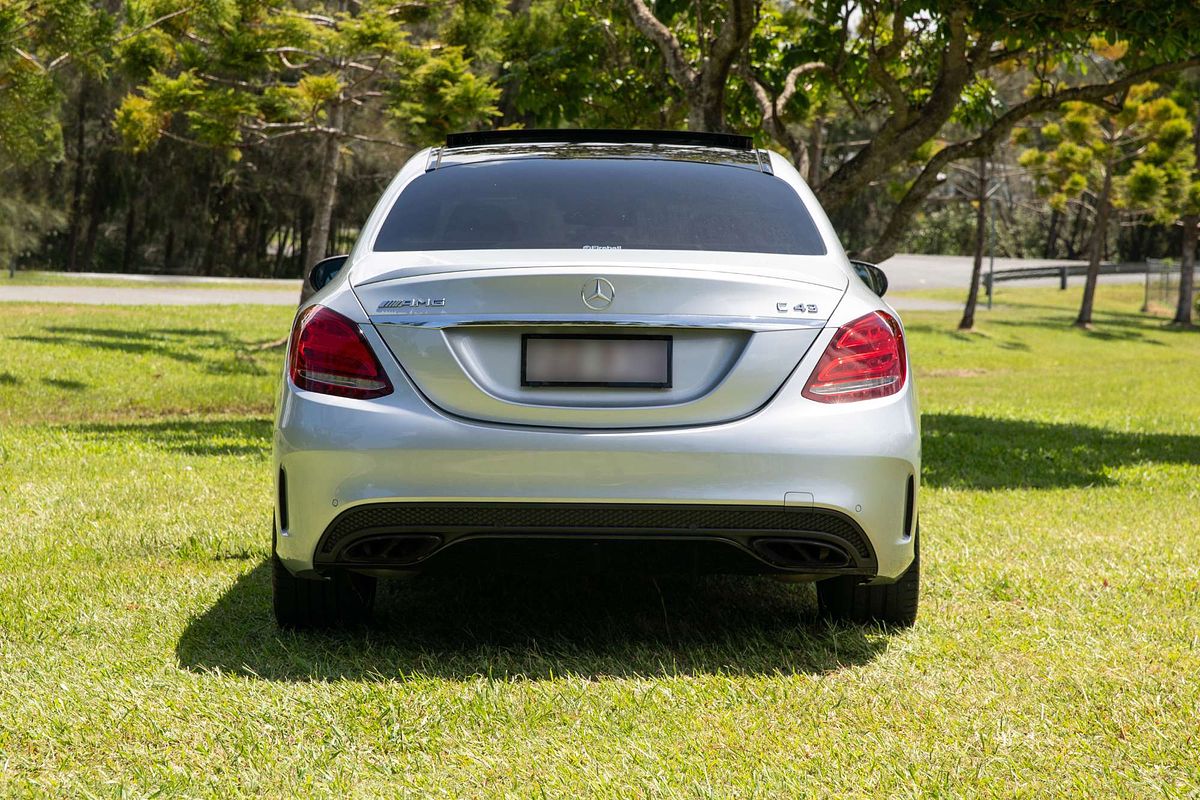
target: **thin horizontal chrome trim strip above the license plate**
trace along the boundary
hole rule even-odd
[[[743,331],[790,331],[824,327],[824,319],[802,317],[718,317],[703,314],[414,314],[384,309],[371,314],[379,325],[458,327],[464,325],[619,325],[626,327],[720,327]]]

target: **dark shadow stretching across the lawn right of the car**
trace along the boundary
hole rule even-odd
[[[1200,437],[1086,425],[924,414],[922,481],[961,489],[1111,486],[1110,469],[1200,463]]]

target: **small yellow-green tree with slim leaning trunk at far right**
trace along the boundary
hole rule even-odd
[[[1190,175],[1192,126],[1186,112],[1169,97],[1157,97],[1158,85],[1133,86],[1118,108],[1066,103],[1061,122],[1043,125],[1043,149],[1021,155],[1050,205],[1060,211],[1068,201],[1084,203],[1094,218],[1088,247],[1087,279],[1075,325],[1090,327],[1100,261],[1105,255],[1114,207],[1159,221],[1177,219]]]

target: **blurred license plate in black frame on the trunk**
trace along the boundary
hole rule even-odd
[[[671,337],[526,333],[521,385],[670,389]]]

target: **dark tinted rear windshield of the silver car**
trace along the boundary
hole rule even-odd
[[[425,173],[377,251],[707,249],[822,255],[799,196],[740,167],[629,158],[514,158]]]

